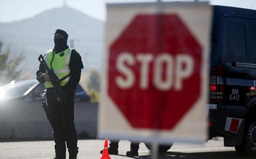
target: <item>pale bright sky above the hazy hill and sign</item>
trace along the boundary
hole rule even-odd
[[[106,20],[106,3],[157,2],[158,0],[0,0],[0,22],[8,23],[33,17],[44,10],[67,6],[77,9],[88,16]],[[179,1],[179,0],[161,0]],[[181,0],[185,1],[185,0]],[[193,1],[193,0],[186,0]],[[211,5],[236,6],[255,9],[255,0],[209,0]]]

